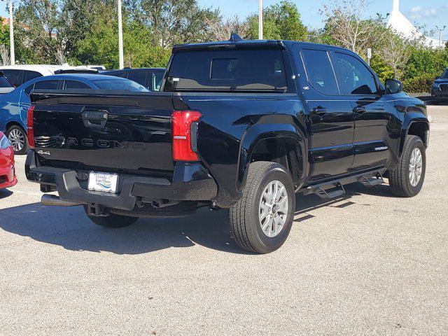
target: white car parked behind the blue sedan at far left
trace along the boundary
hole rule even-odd
[[[85,66],[69,66],[64,65],[6,65],[0,66],[0,71],[8,78],[11,84],[15,87],[19,87],[28,80],[42,77],[51,76],[57,73],[57,70],[69,70],[69,69],[97,69],[103,70],[104,66],[101,65],[85,65]]]

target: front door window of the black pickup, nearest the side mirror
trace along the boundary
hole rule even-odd
[[[353,56],[335,52],[335,71],[342,94],[377,94],[377,83],[367,67]]]

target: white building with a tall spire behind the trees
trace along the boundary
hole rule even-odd
[[[416,27],[407,20],[405,15],[400,12],[400,0],[393,0],[392,13],[389,16],[387,25],[399,34],[402,34],[405,38],[423,38],[423,43],[428,47],[439,48],[438,40],[423,36],[419,29],[416,29]]]

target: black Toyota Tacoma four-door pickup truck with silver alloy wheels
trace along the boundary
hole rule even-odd
[[[241,248],[288,237],[295,193],[344,185],[421,190],[426,106],[382,85],[358,55],[330,45],[229,41],[176,45],[162,92],[31,95],[26,174],[47,205],[83,206],[94,223],[230,209]]]

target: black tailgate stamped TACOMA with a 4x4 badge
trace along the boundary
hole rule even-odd
[[[172,94],[35,92],[36,153],[52,165],[172,171]]]

